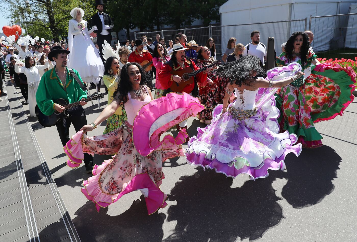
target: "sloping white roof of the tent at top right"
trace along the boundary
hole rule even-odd
[[[311,3],[337,3],[341,2],[338,0],[265,0],[265,1],[241,1],[241,0],[228,0],[222,6],[220,6],[220,14],[235,12],[246,9],[256,9],[256,8],[265,8],[275,5],[284,5],[284,4],[311,4]],[[344,1],[348,2],[348,1]],[[355,2],[355,1],[351,1]]]

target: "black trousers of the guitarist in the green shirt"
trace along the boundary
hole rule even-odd
[[[62,119],[58,124],[56,124],[57,131],[63,146],[65,146],[66,143],[70,140],[69,128],[71,124],[73,124],[76,132],[78,132],[84,125],[87,124],[86,114],[81,106],[69,110],[68,114],[71,114],[71,116],[66,119]],[[91,161],[93,161],[93,157],[90,154],[84,153],[84,164],[87,164]]]

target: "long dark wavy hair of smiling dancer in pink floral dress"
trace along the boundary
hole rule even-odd
[[[141,74],[140,85],[146,85],[150,88],[150,90],[152,90],[151,76],[149,73],[145,72],[141,65],[135,62],[125,64],[121,69],[119,85],[112,96],[112,98],[115,98],[121,102],[120,107],[122,108],[125,107],[125,103],[128,101],[128,93],[133,89],[128,73],[128,68],[131,65],[135,65],[137,68],[139,68]]]

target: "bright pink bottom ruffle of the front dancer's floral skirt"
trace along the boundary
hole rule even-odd
[[[109,163],[110,162],[106,160],[100,166],[93,168],[92,173],[95,175],[85,180],[83,182],[84,188],[81,189],[84,196],[95,203],[97,212],[99,212],[101,207],[108,207],[110,204],[118,201],[123,195],[137,190],[140,190],[145,196],[148,215],[155,213],[159,208],[167,206],[167,203],[165,202],[167,195],[155,185],[147,173],[136,174],[130,181],[124,183],[124,189],[120,193],[103,193],[99,187],[98,179],[100,171],[102,171]]]

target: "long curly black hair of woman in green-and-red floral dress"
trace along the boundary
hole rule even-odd
[[[295,32],[290,36],[290,38],[288,39],[288,41],[286,41],[286,44],[285,44],[285,55],[286,55],[288,61],[291,63],[294,58],[293,57],[294,41],[298,35],[301,35],[302,39],[303,39],[301,49],[300,49],[301,64],[306,65],[306,63],[307,63],[306,56],[308,55],[308,50],[310,48],[310,42],[309,42],[309,36],[304,32]]]

